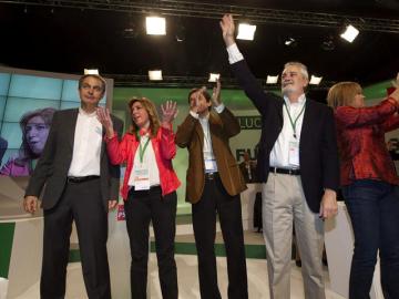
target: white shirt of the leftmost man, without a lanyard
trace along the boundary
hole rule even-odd
[[[68,176],[100,175],[101,144],[102,125],[96,113],[89,114],[79,109]]]

